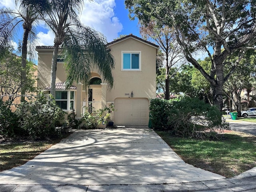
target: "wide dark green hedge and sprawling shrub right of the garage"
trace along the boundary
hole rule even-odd
[[[216,129],[229,129],[216,106],[186,96],[168,101],[152,99],[150,116],[153,128],[171,130],[179,136],[204,138],[213,136]]]

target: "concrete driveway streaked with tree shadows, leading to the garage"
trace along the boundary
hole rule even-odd
[[[0,184],[170,184],[224,178],[186,164],[147,127],[77,130],[26,164],[0,172]]]

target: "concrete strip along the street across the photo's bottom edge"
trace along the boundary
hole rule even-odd
[[[256,178],[232,178],[173,184],[1,185],[1,192],[255,192]]]

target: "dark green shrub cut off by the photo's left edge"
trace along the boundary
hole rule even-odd
[[[8,102],[0,100],[0,135],[12,137],[18,132],[18,117],[9,108]]]

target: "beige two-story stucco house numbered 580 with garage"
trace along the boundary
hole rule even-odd
[[[86,108],[104,108],[114,103],[112,120],[115,125],[147,125],[149,99],[156,98],[156,53],[158,46],[132,34],[108,43],[115,59],[112,71],[114,87],[102,82],[97,70],[91,72],[90,88],[81,84],[65,89],[66,72],[63,62],[57,62],[56,102],[66,112],[74,108],[77,117]],[[53,46],[37,46],[38,88],[50,91],[50,71]]]

